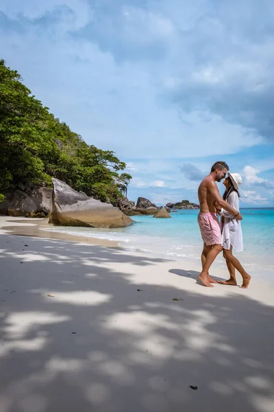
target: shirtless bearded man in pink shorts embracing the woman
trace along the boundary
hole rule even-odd
[[[234,207],[230,206],[221,197],[216,181],[220,182],[225,178],[229,167],[225,161],[216,161],[212,165],[210,174],[201,181],[198,189],[200,212],[198,223],[203,239],[203,252],[201,253],[201,263],[203,270],[198,276],[203,286],[213,287],[211,283],[216,283],[208,274],[209,268],[216,256],[223,250],[221,245],[221,225],[216,216],[214,202],[219,203],[223,209],[233,214],[237,220],[242,220],[242,215]]]

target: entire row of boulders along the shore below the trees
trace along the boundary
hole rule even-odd
[[[5,200],[0,203],[0,214],[26,217],[46,217],[50,214],[49,222],[54,225],[111,228],[131,225],[133,220],[129,216],[170,218],[169,211],[199,209],[199,205],[188,200],[157,207],[143,197],[138,198],[136,205],[128,198],[121,198],[119,207],[113,207],[110,203],[102,203],[84,192],[73,190],[63,181],[52,181],[53,189],[19,184],[16,190],[5,194]]]

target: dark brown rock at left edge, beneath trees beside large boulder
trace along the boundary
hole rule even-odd
[[[52,209],[52,189],[19,185],[20,189],[5,194],[5,200],[0,203],[0,214],[45,218]]]

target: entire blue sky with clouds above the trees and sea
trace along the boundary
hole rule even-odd
[[[242,207],[273,207],[273,21],[272,0],[2,0],[1,58],[127,163],[130,199],[197,201],[225,160]]]

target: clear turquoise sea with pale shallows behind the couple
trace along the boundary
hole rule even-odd
[[[171,212],[170,219],[132,216],[135,223],[119,229],[52,227],[47,230],[114,240],[127,250],[162,258],[199,260],[202,241],[197,224],[198,213],[199,209],[178,210]],[[274,269],[274,208],[241,208],[241,214],[244,251],[235,255],[256,272],[271,273]]]

